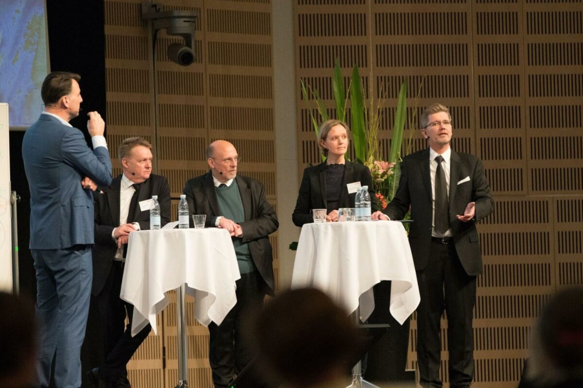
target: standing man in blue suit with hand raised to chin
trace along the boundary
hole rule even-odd
[[[37,373],[48,387],[81,386],[80,350],[92,282],[93,195],[111,182],[105,123],[89,112],[92,151],[69,124],[83,101],[79,74],[52,72],[43,81],[45,111],[24,134],[22,155],[30,186],[30,250],[37,277]]]

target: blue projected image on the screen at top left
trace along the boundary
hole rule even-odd
[[[44,0],[2,0],[0,102],[10,126],[26,127],[43,111],[40,88],[48,73]]]

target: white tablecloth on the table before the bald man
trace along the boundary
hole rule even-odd
[[[166,291],[186,283],[195,297],[195,318],[219,325],[237,302],[237,257],[225,229],[161,229],[129,234],[120,297],[134,305],[132,336],[147,323],[156,333],[156,314]]]

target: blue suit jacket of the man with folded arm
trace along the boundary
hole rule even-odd
[[[93,195],[81,179],[111,183],[105,147],[87,147],[80,130],[40,115],[24,134],[22,159],[30,187],[30,249],[93,244]]]

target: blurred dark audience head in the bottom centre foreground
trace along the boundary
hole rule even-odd
[[[315,289],[280,294],[259,314],[253,333],[265,375],[286,387],[330,386],[360,350],[348,313]]]

